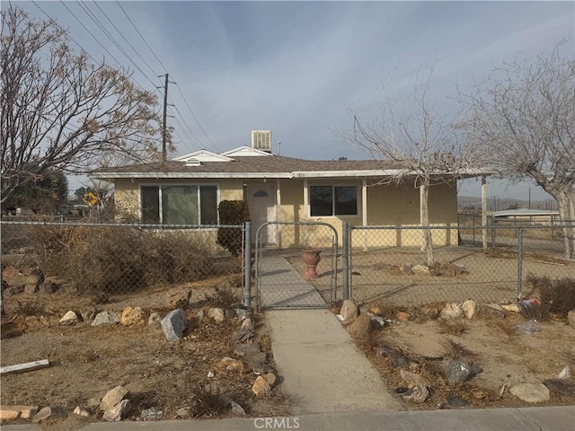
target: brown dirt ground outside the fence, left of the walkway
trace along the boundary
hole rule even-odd
[[[61,406],[69,413],[80,406],[90,418],[102,420],[91,399],[102,398],[123,385],[129,391],[128,420],[141,420],[142,409],[161,409],[163,418],[222,418],[233,416],[224,397],[238,403],[251,417],[286,415],[286,400],[280,385],[269,395],[255,397],[252,384],[257,375],[243,361],[243,370],[226,370],[219,362],[234,356],[229,338],[239,328],[239,318],[222,322],[208,318],[209,307],[229,307],[241,298],[236,277],[173,287],[162,292],[133,295],[120,302],[102,303],[103,298],[66,294],[13,295],[6,297],[2,318],[2,365],[49,359],[49,368],[2,375],[2,405]],[[161,327],[146,323],[93,328],[89,321],[72,326],[58,324],[68,310],[119,311],[128,305],[146,313],[170,312],[171,295],[191,289],[186,307],[187,330],[180,341],[170,342]],[[196,317],[203,310],[206,317]],[[255,341],[275,369],[263,315],[255,315]],[[213,377],[209,377],[213,373]],[[19,419],[21,420],[21,419]],[[21,420],[22,421],[22,420]],[[25,421],[22,421],[25,422]],[[70,415],[54,429],[73,429],[83,422]],[[13,422],[12,422],[13,423]]]

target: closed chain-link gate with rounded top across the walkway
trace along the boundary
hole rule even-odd
[[[273,242],[269,240],[273,240]],[[338,233],[323,222],[268,222],[255,234],[256,308],[329,308],[336,300]],[[304,251],[320,256],[314,270]]]

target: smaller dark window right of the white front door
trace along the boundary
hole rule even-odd
[[[310,215],[357,216],[358,188],[355,186],[310,186]]]

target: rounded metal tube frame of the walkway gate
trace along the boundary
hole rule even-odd
[[[333,305],[336,302],[336,296],[337,296],[337,274],[338,274],[338,258],[339,256],[341,256],[341,254],[338,251],[339,248],[339,237],[338,237],[338,232],[336,231],[335,227],[333,227],[332,224],[329,223],[325,223],[325,222],[279,222],[279,221],[272,221],[272,222],[267,222],[265,224],[261,224],[261,226],[258,228],[256,234],[255,234],[255,262],[254,262],[254,267],[255,267],[255,280],[256,280],[256,295],[255,295],[255,299],[256,299],[256,306],[255,308],[258,310],[261,310],[263,307],[261,307],[261,257],[262,257],[262,244],[261,244],[261,232],[263,229],[267,228],[269,225],[271,224],[275,224],[275,225],[291,225],[291,226],[296,226],[296,225],[305,225],[305,226],[317,226],[317,225],[322,225],[322,226],[326,226],[327,228],[332,230],[333,236],[332,236],[332,279],[331,279],[331,286],[330,286],[330,300],[331,300],[331,305]],[[278,246],[275,247],[276,250],[282,250],[281,246],[281,232],[279,231],[278,233]],[[301,246],[302,249],[305,249],[306,247]],[[266,248],[266,250],[273,250],[273,247],[270,248]],[[325,249],[325,248],[323,248]],[[319,292],[318,292],[319,295]],[[326,304],[325,308],[329,308],[330,304]],[[302,309],[302,308],[318,308],[314,305],[310,305],[310,306],[305,306],[305,305],[286,305],[283,307],[265,307],[268,309],[279,309],[279,308],[289,308],[292,310],[296,310],[296,309]]]

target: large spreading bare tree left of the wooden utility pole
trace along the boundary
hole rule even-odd
[[[13,4],[1,13],[0,202],[46,172],[160,154],[153,93],[128,71],[76,54],[56,22],[33,20]]]

